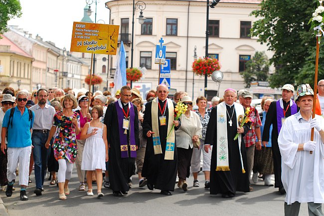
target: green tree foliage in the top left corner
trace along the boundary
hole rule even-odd
[[[13,17],[21,16],[19,0],[0,0],[0,34],[7,30],[7,23]]]

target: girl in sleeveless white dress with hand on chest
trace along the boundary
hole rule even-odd
[[[86,139],[82,154],[81,169],[87,171],[87,195],[93,196],[92,172],[96,171],[98,198],[104,196],[101,192],[102,170],[106,170],[105,162],[108,161],[107,127],[100,122],[102,115],[102,106],[95,105],[91,113],[93,120],[84,125],[80,136],[81,140]]]

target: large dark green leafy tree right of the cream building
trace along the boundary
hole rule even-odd
[[[298,84],[314,77],[311,65],[315,58],[316,39],[308,21],[317,7],[318,0],[262,0],[261,8],[251,15],[260,19],[253,23],[251,35],[259,37],[261,44],[274,51],[270,63],[276,72],[269,77],[271,87],[285,83]],[[306,64],[307,63],[307,64]],[[320,68],[320,67],[319,67]],[[314,67],[315,70],[315,67]],[[301,72],[306,76],[301,79]],[[312,75],[312,74],[313,75]]]

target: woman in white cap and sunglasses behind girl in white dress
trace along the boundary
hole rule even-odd
[[[91,115],[90,113],[88,113],[88,101],[89,98],[86,95],[81,95],[78,100],[80,110],[76,110],[76,112],[79,113],[80,115],[80,132],[82,132],[84,125],[87,122],[90,122],[91,119]],[[81,170],[81,163],[82,163],[83,148],[86,141],[81,140],[80,135],[81,133],[76,136],[76,140],[77,140],[76,142],[78,144],[78,155],[76,156],[75,166],[80,181],[79,191],[85,191],[86,190],[86,186],[84,184],[85,171]]]

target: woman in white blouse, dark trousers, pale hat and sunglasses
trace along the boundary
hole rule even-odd
[[[185,181],[190,173],[190,161],[193,143],[199,143],[202,126],[199,116],[192,111],[195,105],[189,96],[182,97],[182,103],[187,105],[187,111],[181,115],[181,126],[175,131],[177,156],[178,156],[178,188],[187,191],[188,184]]]

